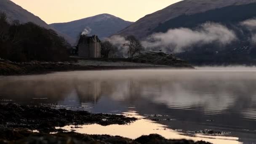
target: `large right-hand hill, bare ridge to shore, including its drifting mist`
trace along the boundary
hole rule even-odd
[[[255,9],[256,0],[183,0],[117,34],[193,65],[256,65]]]

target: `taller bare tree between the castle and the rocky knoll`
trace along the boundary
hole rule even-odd
[[[133,61],[133,56],[136,53],[140,53],[143,47],[140,41],[136,39],[136,37],[134,37],[133,35],[125,37],[125,40],[126,43],[123,44],[123,46],[128,47],[128,54],[130,55],[131,61]]]

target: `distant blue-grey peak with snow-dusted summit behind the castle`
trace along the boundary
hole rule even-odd
[[[77,39],[84,29],[87,29],[91,34],[104,38],[115,34],[131,24],[132,22],[130,21],[125,21],[116,16],[104,13],[85,19],[50,25],[58,31]]]

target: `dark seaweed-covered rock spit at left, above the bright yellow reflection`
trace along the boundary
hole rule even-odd
[[[136,120],[123,115],[92,114],[86,111],[17,104],[0,104],[0,116],[0,128],[28,128],[41,132],[54,132],[57,131],[55,127],[65,125],[123,125]]]

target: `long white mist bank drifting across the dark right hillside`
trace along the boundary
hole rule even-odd
[[[227,27],[207,22],[199,28],[192,30],[189,28],[169,29],[166,33],[156,33],[142,42],[146,48],[165,48],[173,52],[184,51],[185,48],[193,45],[218,43],[227,45],[236,40],[235,32]]]

